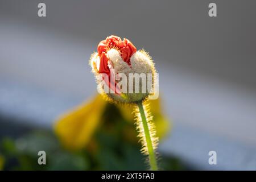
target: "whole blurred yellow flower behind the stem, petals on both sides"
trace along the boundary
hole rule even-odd
[[[154,117],[156,135],[163,138],[170,129],[170,122],[164,117],[160,108],[160,101],[148,100],[151,105],[151,114]],[[79,150],[86,146],[95,148],[93,134],[105,120],[103,113],[107,105],[112,105],[105,101],[100,94],[93,100],[86,102],[74,110],[63,114],[57,119],[54,130],[63,145],[70,150]],[[118,105],[118,110],[128,122],[134,122],[133,106]],[[111,121],[110,121],[111,122]],[[137,142],[137,133],[134,127],[127,127],[124,134],[130,141]],[[94,144],[93,144],[94,143]]]

